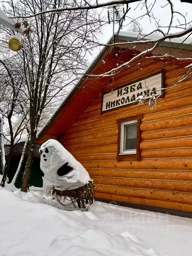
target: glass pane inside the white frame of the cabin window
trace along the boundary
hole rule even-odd
[[[137,123],[124,125],[124,147],[123,151],[136,149]]]

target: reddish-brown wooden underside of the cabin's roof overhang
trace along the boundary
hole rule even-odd
[[[133,49],[129,49],[133,47]],[[145,46],[146,47],[146,46]],[[148,45],[150,47],[150,45]],[[140,45],[129,48],[116,47],[115,49],[107,47],[97,58],[96,62],[88,69],[89,74],[101,74],[107,72],[114,67],[117,67],[122,62],[126,62],[140,53]],[[166,48],[166,50],[164,50]],[[168,47],[161,47],[161,51],[167,51]],[[160,50],[160,49],[159,49]],[[118,57],[115,53],[118,52]],[[162,53],[164,53],[162,52]],[[189,50],[178,50],[176,54],[191,55]],[[166,70],[168,63],[172,65],[173,69],[181,69],[189,64],[189,61],[175,61],[174,59],[153,59],[148,60],[146,57],[141,57],[134,61],[127,69],[123,69],[118,74],[110,77],[86,77],[84,76],[77,86],[69,93],[61,106],[57,109],[54,115],[48,121],[47,125],[42,129],[37,137],[37,143],[42,144],[50,138],[57,139],[70,130],[73,123],[81,116],[85,115],[89,107],[94,103],[102,93],[110,92],[116,88],[121,88],[136,80],[142,80],[149,76],[153,76],[162,69]],[[129,76],[128,74],[133,74]],[[100,106],[101,107],[101,106]]]

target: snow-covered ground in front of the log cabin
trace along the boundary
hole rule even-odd
[[[100,202],[64,211],[42,196],[0,188],[1,256],[192,255],[192,219]]]

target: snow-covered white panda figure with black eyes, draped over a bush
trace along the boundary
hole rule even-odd
[[[85,168],[57,140],[50,139],[40,147],[40,168],[44,172],[43,191],[53,188],[72,190],[88,184],[91,178]]]

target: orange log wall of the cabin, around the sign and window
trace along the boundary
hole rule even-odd
[[[146,75],[162,65],[142,63]],[[165,64],[165,87],[186,72]],[[151,69],[151,70],[150,70]],[[174,70],[173,70],[174,69]],[[150,71],[149,71],[150,70]],[[143,77],[139,69],[122,71],[113,89]],[[109,90],[106,89],[103,91]],[[165,91],[150,110],[147,103],[100,114],[101,95],[64,135],[64,146],[87,169],[96,185],[95,196],[109,200],[192,212],[192,81],[187,79]],[[143,114],[141,160],[116,160],[118,119]]]

